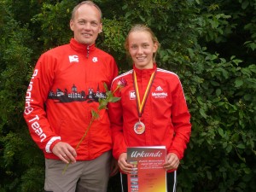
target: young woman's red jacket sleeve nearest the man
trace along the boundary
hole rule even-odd
[[[117,89],[117,82],[113,82],[111,90]],[[116,90],[113,96],[121,97],[121,90]],[[126,144],[123,133],[123,109],[121,101],[119,102],[109,102],[108,103],[108,113],[111,123],[111,132],[113,139],[113,157],[118,160],[119,155],[126,153]]]

